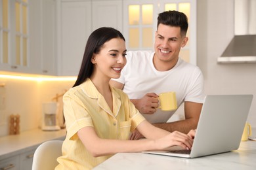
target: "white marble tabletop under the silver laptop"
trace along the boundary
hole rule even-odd
[[[256,129],[254,134],[256,135]],[[140,152],[119,153],[96,166],[99,169],[256,169],[256,141],[242,141],[238,150],[200,158],[177,158]]]

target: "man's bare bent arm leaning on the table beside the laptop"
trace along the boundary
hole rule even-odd
[[[194,103],[185,101],[184,112],[185,120],[179,120],[176,122],[158,123],[154,124],[156,127],[165,129],[167,131],[181,131],[182,133],[188,133],[190,129],[196,129],[198,126],[198,120],[202,110],[202,103]]]

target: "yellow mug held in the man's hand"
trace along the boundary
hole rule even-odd
[[[171,111],[177,109],[177,99],[175,92],[160,93],[160,109],[163,111]]]

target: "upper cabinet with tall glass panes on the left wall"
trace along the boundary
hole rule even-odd
[[[55,11],[54,0],[0,1],[0,71],[56,74]]]

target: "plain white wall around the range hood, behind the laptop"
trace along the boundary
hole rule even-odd
[[[198,66],[205,78],[205,93],[253,94],[247,122],[256,127],[256,63],[217,63],[234,36],[234,0],[198,0],[197,10]]]

